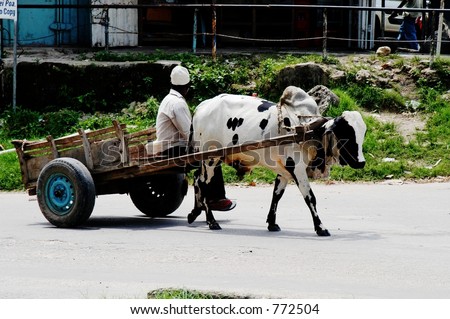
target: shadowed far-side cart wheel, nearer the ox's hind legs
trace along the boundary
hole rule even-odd
[[[187,193],[186,175],[161,174],[138,179],[130,190],[133,204],[149,217],[162,217],[173,213]]]

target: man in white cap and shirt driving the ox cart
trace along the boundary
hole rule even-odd
[[[171,89],[162,100],[156,117],[156,145],[163,155],[170,157],[187,153],[192,116],[186,103],[191,81],[189,71],[182,66],[176,66],[170,73]],[[236,203],[225,196],[222,167],[214,171],[214,177],[209,185],[206,198],[212,210],[227,211]]]

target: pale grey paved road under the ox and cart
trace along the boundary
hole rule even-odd
[[[266,230],[270,187],[228,187],[221,231],[186,214],[143,217],[126,195],[97,199],[85,227],[58,229],[24,193],[0,193],[0,298],[145,298],[195,288],[278,298],[450,298],[450,183],[313,184],[332,237],[299,192]]]

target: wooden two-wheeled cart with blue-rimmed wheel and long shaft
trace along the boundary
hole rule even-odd
[[[156,138],[155,128],[127,133],[126,126],[116,121],[100,130],[80,129],[62,138],[12,143],[23,184],[29,195],[37,195],[45,218],[57,227],[76,227],[91,216],[96,196],[104,194],[128,193],[144,214],[168,215],[187,193],[187,166],[207,158],[298,143],[312,138],[312,129],[298,126],[289,135],[174,158],[147,154],[145,145]]]

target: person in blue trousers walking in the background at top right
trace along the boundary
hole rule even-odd
[[[403,0],[399,8],[420,9],[422,8],[423,0]],[[393,13],[396,14],[395,12]],[[403,12],[403,22],[400,25],[399,35],[397,40],[408,41],[408,45],[411,49],[420,51],[420,45],[417,42],[416,20],[420,16],[419,11],[405,11]]]

